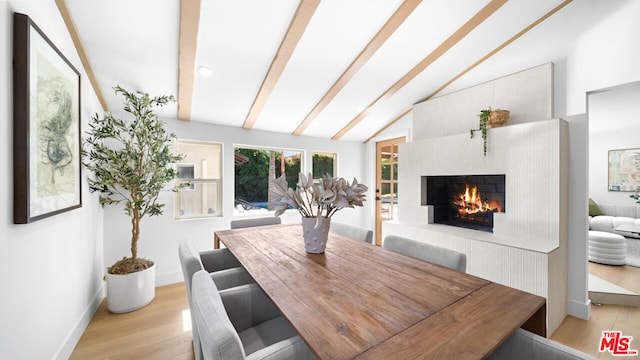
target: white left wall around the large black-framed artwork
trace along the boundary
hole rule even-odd
[[[82,72],[53,1],[0,1],[0,358],[66,359],[102,300],[102,211],[83,181],[80,209],[13,224],[14,11],[29,15]],[[85,126],[100,108],[82,79]]]

